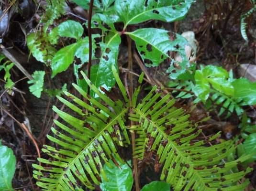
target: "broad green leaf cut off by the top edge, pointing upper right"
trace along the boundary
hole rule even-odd
[[[115,0],[115,11],[125,26],[148,20],[183,19],[193,0]]]

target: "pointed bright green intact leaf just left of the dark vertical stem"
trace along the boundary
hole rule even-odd
[[[53,57],[51,68],[53,70],[52,77],[56,74],[66,71],[68,66],[73,63],[75,53],[77,50],[77,43],[70,44],[60,49]]]

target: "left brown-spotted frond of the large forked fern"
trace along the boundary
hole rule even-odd
[[[58,128],[53,127],[54,136],[47,135],[47,138],[56,143],[57,147],[45,145],[42,151],[54,160],[39,158],[45,166],[33,165],[36,169],[33,177],[38,180],[37,185],[45,191],[75,191],[82,190],[82,186],[93,189],[93,185],[101,181],[100,174],[104,177],[102,162],[110,166],[109,159],[122,162],[116,145],[130,143],[124,125],[125,114],[129,108],[123,106],[120,100],[114,102],[100,93],[85,74],[83,75],[90,88],[100,96],[100,101],[89,97],[77,85],[74,85],[77,91],[93,105],[68,92],[65,94],[73,103],[58,96],[76,116],[53,107],[63,122],[55,120]],[[89,114],[86,114],[84,109],[87,109]]]

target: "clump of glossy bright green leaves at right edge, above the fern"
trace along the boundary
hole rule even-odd
[[[168,86],[188,91],[178,93],[177,98],[196,96],[194,103],[202,101],[208,109],[218,106],[219,116],[225,113],[225,117],[230,117],[235,112],[241,117],[243,106],[256,104],[256,83],[246,78],[234,79],[232,70],[227,72],[220,66],[207,65],[196,70],[193,65],[189,71],[178,76],[177,81],[169,82]]]

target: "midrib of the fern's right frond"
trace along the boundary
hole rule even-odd
[[[182,154],[182,152],[178,149],[178,145],[176,145],[173,141],[169,140],[167,134],[166,134],[163,130],[161,130],[161,128],[160,128],[155,122],[153,122],[151,119],[149,119],[148,117],[146,117],[146,116],[144,115],[144,113],[141,112],[140,110],[138,110],[138,109],[136,109],[136,108],[133,108],[133,109],[134,109],[134,111],[135,111],[136,113],[138,113],[140,116],[144,117],[144,118],[145,118],[146,120],[148,120],[151,124],[153,124],[153,126],[156,127],[156,128],[158,129],[158,131],[159,131],[165,138],[168,139],[168,142],[171,144],[171,147],[174,148],[174,149],[176,149],[176,151],[177,151],[177,153],[178,153],[179,156],[181,156],[183,159],[188,159],[187,161],[189,161],[188,163],[189,163],[189,166],[191,166],[191,169],[193,170],[193,174],[195,174],[195,175],[199,178],[199,180],[201,181],[201,183],[204,185],[205,191],[208,190],[209,188],[205,185],[205,182],[201,179],[201,176],[198,174],[198,172],[197,172],[196,170],[194,170],[194,168],[193,168],[194,165],[193,165],[193,162],[192,162],[191,158],[184,156],[184,155]],[[186,161],[186,160],[185,160],[185,161]]]

